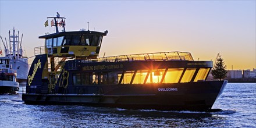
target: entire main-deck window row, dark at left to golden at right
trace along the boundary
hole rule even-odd
[[[178,83],[182,77],[184,68],[178,69],[158,69],[158,70],[137,70],[108,73],[74,73],[73,84],[147,84],[147,83]],[[196,68],[188,68],[183,74],[181,83],[190,82],[194,76]],[[194,81],[205,80],[209,68],[200,68]],[[166,72],[166,73],[165,73]],[[165,73],[165,77],[163,78]],[[133,79],[133,80],[132,80]]]

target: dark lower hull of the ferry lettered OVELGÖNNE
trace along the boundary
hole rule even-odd
[[[23,94],[25,104],[90,105],[162,111],[209,111],[227,81],[88,86],[77,94]]]

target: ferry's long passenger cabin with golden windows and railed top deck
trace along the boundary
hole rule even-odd
[[[73,60],[66,63],[65,70],[73,76],[69,85],[86,86],[204,81],[211,67],[211,61],[194,61],[188,52],[162,52]]]

